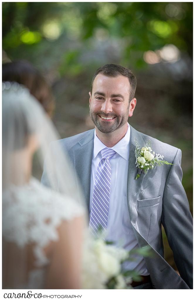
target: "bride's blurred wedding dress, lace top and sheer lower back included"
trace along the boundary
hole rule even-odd
[[[50,263],[45,248],[58,240],[57,228],[63,220],[83,214],[83,207],[73,199],[65,199],[33,177],[26,185],[12,185],[5,190],[2,195],[3,288],[43,289]]]

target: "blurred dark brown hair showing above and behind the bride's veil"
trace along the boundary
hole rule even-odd
[[[31,63],[19,60],[3,64],[2,81],[17,82],[26,86],[47,114],[52,116],[55,104],[51,88],[44,76]]]

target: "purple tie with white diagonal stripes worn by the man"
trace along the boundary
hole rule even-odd
[[[99,162],[96,172],[89,224],[90,231],[93,234],[96,234],[100,227],[103,229],[107,227],[111,184],[111,164],[109,160],[114,154],[116,152],[108,147],[101,151],[102,160]]]

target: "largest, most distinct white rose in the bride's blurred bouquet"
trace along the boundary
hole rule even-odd
[[[110,278],[120,272],[120,262],[112,255],[102,252],[99,254],[99,266],[101,270]]]

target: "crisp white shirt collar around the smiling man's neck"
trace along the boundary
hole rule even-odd
[[[125,136],[113,147],[111,147],[117,154],[119,154],[121,157],[123,157],[125,160],[129,160],[129,143],[130,143],[130,126],[129,123],[127,123],[127,131]],[[102,141],[99,140],[99,138],[96,136],[96,130],[94,132],[94,146],[93,146],[93,159],[97,157],[99,152],[103,150],[105,147],[105,144],[102,143]]]

